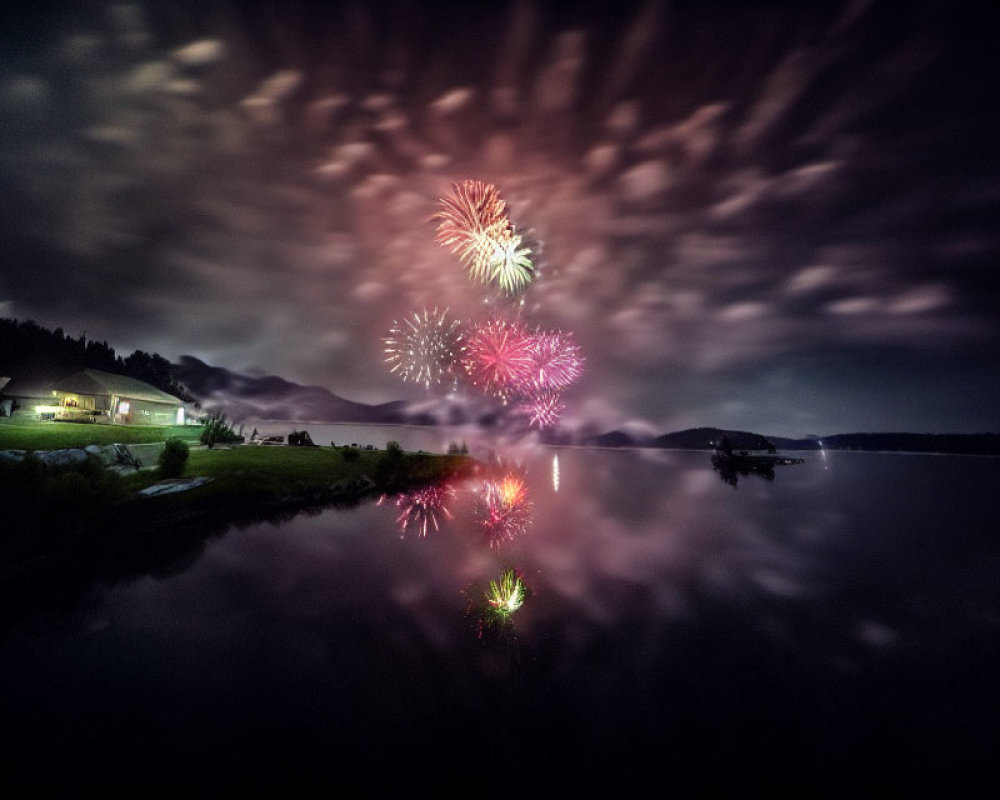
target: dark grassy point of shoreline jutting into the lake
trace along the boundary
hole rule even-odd
[[[230,524],[351,507],[382,493],[470,477],[478,468],[474,459],[461,455],[355,452],[357,459],[347,460],[333,447],[192,449],[183,476],[211,480],[151,497],[138,492],[160,479],[156,469],[119,475],[93,459],[66,468],[30,458],[0,460],[0,508],[5,522],[17,521],[0,535],[0,564],[71,554],[82,543],[101,552],[138,553],[143,547],[155,549],[164,536],[207,535]],[[344,491],[345,483],[362,475],[374,485]]]

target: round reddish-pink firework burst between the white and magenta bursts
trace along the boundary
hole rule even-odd
[[[528,389],[535,375],[532,337],[518,322],[493,318],[468,336],[463,366],[473,385],[507,400]]]

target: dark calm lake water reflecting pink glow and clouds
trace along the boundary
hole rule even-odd
[[[706,453],[529,450],[499,547],[476,483],[426,536],[386,498],[41,576],[0,631],[3,777],[995,790],[1000,459],[805,457],[734,485]],[[507,566],[527,599],[483,628]]]

